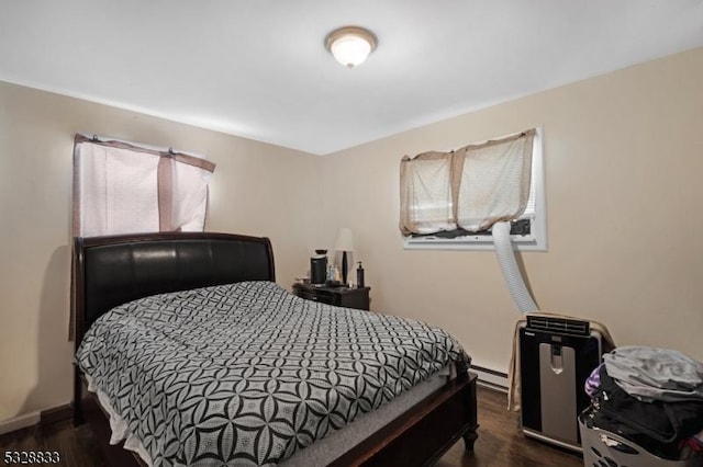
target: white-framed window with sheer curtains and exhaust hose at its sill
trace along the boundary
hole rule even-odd
[[[546,251],[544,186],[540,129],[456,151],[405,157],[400,221],[404,247],[492,250],[492,224],[510,219],[518,250]],[[486,206],[477,200],[490,201]]]

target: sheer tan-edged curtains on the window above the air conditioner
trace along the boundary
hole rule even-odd
[[[535,129],[401,160],[400,229],[435,234],[489,229],[527,206]]]

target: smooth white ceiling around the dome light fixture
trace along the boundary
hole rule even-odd
[[[379,39],[352,70],[349,24]],[[317,155],[699,46],[702,0],[0,4],[0,80]]]

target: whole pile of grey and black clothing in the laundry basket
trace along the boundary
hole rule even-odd
[[[671,460],[703,455],[703,363],[681,352],[621,346],[585,381],[589,425]]]

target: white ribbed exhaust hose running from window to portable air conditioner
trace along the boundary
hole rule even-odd
[[[498,263],[501,266],[503,278],[507,284],[513,301],[515,301],[521,312],[537,311],[537,305],[529,291],[527,291],[523,275],[520,272],[520,267],[517,267],[513,242],[510,239],[510,223],[500,221],[493,224],[492,232]]]

